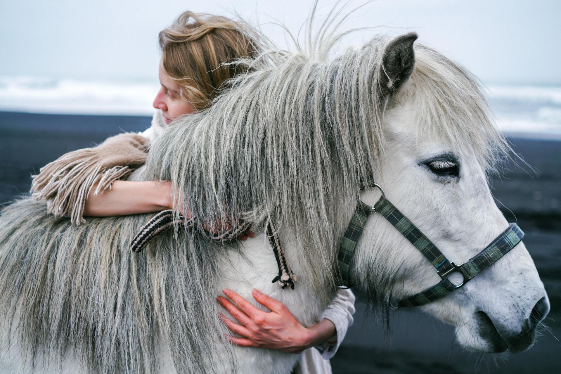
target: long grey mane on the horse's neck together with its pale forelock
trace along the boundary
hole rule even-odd
[[[348,192],[378,167],[384,115],[396,100],[415,101],[412,136],[443,139],[458,154],[475,154],[485,169],[508,150],[478,81],[434,49],[415,46],[410,94],[388,97],[381,62],[392,39],[376,36],[331,61],[265,52],[211,108],[157,140],[150,178],[172,181],[177,206],[189,206],[205,225],[241,217],[288,230],[292,244],[306,248],[300,266],[319,291],[333,280],[346,226],[337,210],[353,204]]]

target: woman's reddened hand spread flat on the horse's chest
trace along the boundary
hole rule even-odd
[[[219,296],[217,301],[239,322],[233,322],[219,313],[228,329],[241,335],[241,338],[226,335],[233,344],[300,353],[314,345],[325,343],[335,336],[333,322],[324,319],[306,328],[296,320],[283,303],[256,289],[253,290],[253,297],[261,305],[269,308],[270,312],[260,311],[232,290],[225,289],[223,293],[233,303],[222,296]]]

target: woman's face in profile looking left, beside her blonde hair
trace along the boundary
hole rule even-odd
[[[197,111],[193,104],[181,97],[179,94],[180,85],[164,72],[161,61],[158,76],[162,86],[152,105],[156,109],[162,109],[165,123],[171,122],[182,114],[191,114]]]

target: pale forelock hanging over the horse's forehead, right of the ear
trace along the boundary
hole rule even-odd
[[[496,172],[511,147],[494,124],[479,80],[460,64],[422,44],[415,49],[410,99],[417,138],[439,139],[459,154],[475,154]]]

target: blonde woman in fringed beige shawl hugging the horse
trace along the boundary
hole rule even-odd
[[[158,111],[151,127],[140,134],[117,135],[98,147],[61,156],[35,176],[33,196],[47,200],[50,213],[70,216],[77,225],[85,222],[84,216],[142,214],[173,208],[171,183],[121,179],[144,164],[150,141],[172,126],[174,119],[208,107],[229,79],[247,70],[233,62],[259,53],[259,39],[249,30],[225,17],[182,13],[159,35],[161,87],[154,99]],[[190,216],[188,209],[183,209],[183,214]],[[253,237],[253,233],[240,238],[248,236]],[[304,373],[331,371],[327,360],[337,351],[355,312],[354,295],[342,290],[321,321],[304,327],[282,303],[257,290],[254,298],[271,312],[257,310],[232,290],[224,290],[224,295],[217,301],[238,323],[222,313],[220,317],[241,336],[229,337],[233,344],[291,353],[305,350],[300,363],[300,372]]]

